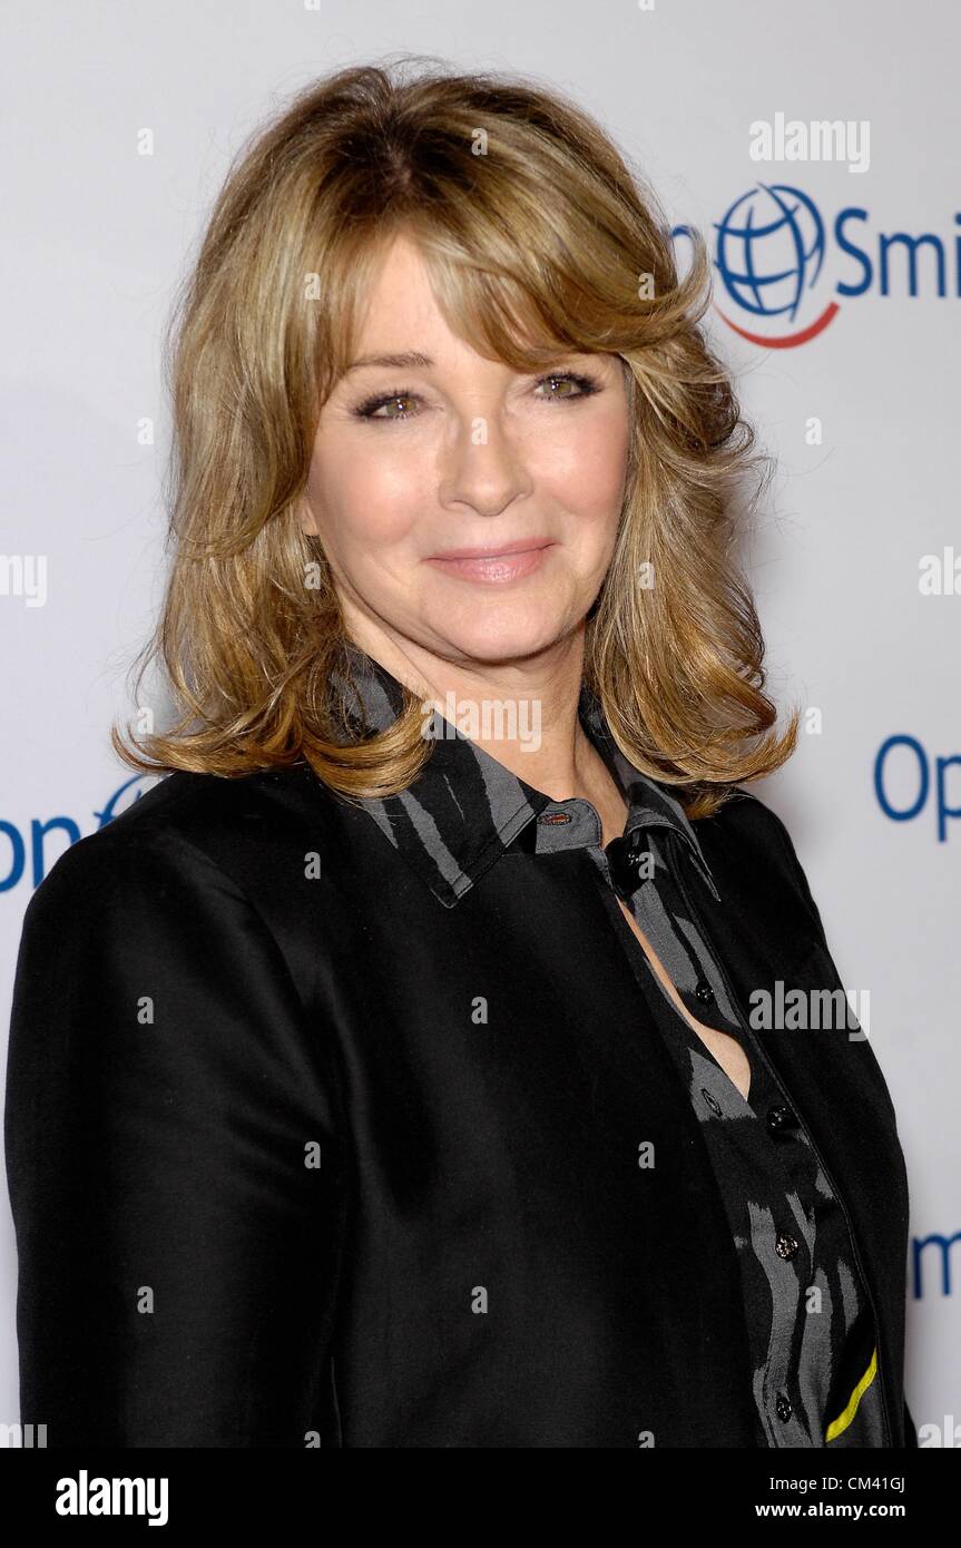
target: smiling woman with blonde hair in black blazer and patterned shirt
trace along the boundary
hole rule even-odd
[[[229,176],[180,718],[115,732],[167,777],[17,969],[51,1446],[916,1444],[894,1111],[856,1020],[783,1011],[846,1002],[738,785],[797,735],[752,435],[655,212],[568,102],[438,70],[320,82]]]

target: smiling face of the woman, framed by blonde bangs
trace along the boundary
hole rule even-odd
[[[388,251],[354,364],[328,398],[302,522],[348,632],[457,663],[549,650],[610,565],[628,452],[621,359],[518,375],[458,339],[407,238]]]

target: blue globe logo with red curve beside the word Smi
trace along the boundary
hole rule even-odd
[[[758,183],[715,221],[715,263],[730,299],[757,317],[794,322],[825,262],[825,224],[808,195],[783,183]],[[803,337],[819,333],[836,310],[831,305]],[[800,344],[802,337],[758,342]]]

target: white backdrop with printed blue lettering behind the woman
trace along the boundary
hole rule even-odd
[[[908,1402],[922,1444],[961,1444],[961,820],[938,817],[939,771],[961,813],[958,6],[8,0],[0,28],[0,1053],[32,887],[142,788],[122,788],[107,728],[159,602],[159,342],[229,158],[345,63],[404,50],[532,74],[718,245],[707,325],[778,460],[747,551],[769,689],[816,712],[754,788],[794,836],[845,986],[870,992],[911,1187]],[[828,121],[840,138],[816,156]],[[783,159],[752,155],[763,124]],[[14,1291],[3,1187],[0,1423],[19,1413]]]

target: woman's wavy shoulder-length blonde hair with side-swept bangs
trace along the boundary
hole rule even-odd
[[[627,757],[676,786],[692,819],[709,816],[791,755],[799,711],[771,729],[732,554],[743,477],[766,458],[698,327],[704,241],[692,234],[679,279],[653,192],[569,101],[416,56],[302,91],[241,147],[215,203],[167,337],[173,556],[135,687],[141,703],[156,661],[175,723],[128,732],[130,746],[115,724],[115,751],[150,774],[306,760],[345,797],[405,789],[430,757],[407,687],[388,731],[345,740],[345,695],[331,690],[334,669],[350,680],[344,619],[322,537],[297,519],[320,409],[401,232],[480,353],[525,373],[560,351],[621,356],[624,509],[583,680]]]

